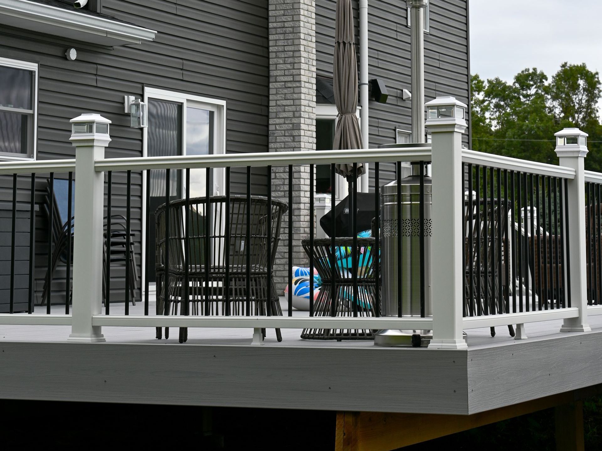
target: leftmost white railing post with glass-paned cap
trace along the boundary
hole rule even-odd
[[[102,306],[102,235],[104,233],[104,173],[95,161],[104,158],[111,142],[110,120],[82,114],[71,120],[69,141],[75,146],[75,213],[73,236],[73,313],[70,342],[104,342],[92,315]]]

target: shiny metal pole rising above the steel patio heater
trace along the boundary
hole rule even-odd
[[[410,8],[412,143],[424,143],[424,8],[429,0],[406,0]]]

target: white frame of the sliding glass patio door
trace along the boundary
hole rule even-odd
[[[177,91],[168,91],[157,88],[144,88],[144,103],[148,105],[149,99],[156,100],[169,100],[170,102],[181,103],[182,105],[182,155],[186,154],[186,107],[188,103],[191,103],[190,106],[199,106],[203,109],[208,109],[209,111],[213,111],[213,137],[214,137],[214,153],[213,155],[223,155],[226,153],[226,100],[221,99],[212,99],[211,97],[202,97],[202,96],[194,96],[193,94],[179,93]],[[144,128],[142,133],[142,156],[148,156],[148,129]],[[226,178],[226,170],[225,168],[215,169],[213,173],[213,189],[218,195],[225,194],[225,178]],[[182,180],[182,189],[185,189],[184,186],[185,180]],[[185,192],[185,191],[182,191]],[[209,194],[212,195],[212,194]],[[142,174],[142,198],[146,199],[146,171]],[[142,234],[143,241],[146,238],[144,235],[146,233],[146,203],[143,201],[142,203]],[[146,268],[146,261],[144,259],[144,253],[142,253],[142,268]],[[142,271],[142,284],[144,287],[144,277],[146,272]],[[144,291],[144,288],[142,289]],[[149,284],[149,294],[155,293],[155,284]],[[150,300],[150,299],[149,299]],[[150,303],[150,302],[149,302]]]

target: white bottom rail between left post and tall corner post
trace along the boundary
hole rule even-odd
[[[432,318],[295,318],[290,316],[93,315],[93,326],[222,327],[280,329],[430,330]]]

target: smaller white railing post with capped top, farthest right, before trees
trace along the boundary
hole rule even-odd
[[[571,280],[571,307],[579,308],[579,316],[565,319],[560,331],[586,332],[591,330],[588,325],[585,248],[585,156],[588,155],[588,134],[570,128],[555,133],[554,136],[560,165],[575,170],[575,178],[567,182],[569,233],[566,241],[571,262],[571,274],[567,274]],[[566,285],[563,283],[563,286]]]

